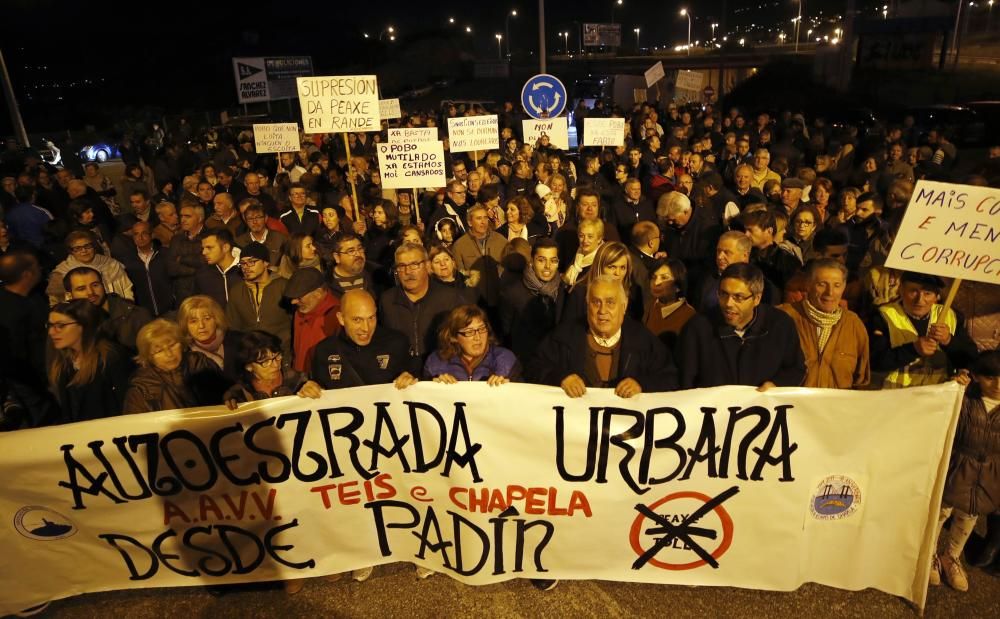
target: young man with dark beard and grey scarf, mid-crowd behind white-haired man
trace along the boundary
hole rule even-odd
[[[538,343],[559,324],[565,302],[559,246],[551,238],[540,238],[521,279],[509,282],[500,295],[504,341],[518,359],[534,356]]]

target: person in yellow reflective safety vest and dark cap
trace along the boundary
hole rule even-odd
[[[975,358],[976,345],[961,314],[951,309],[945,314],[938,303],[943,287],[935,275],[902,274],[899,300],[880,306],[869,325],[873,386],[943,383]]]

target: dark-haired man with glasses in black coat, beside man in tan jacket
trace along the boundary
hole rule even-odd
[[[726,267],[719,306],[695,315],[681,331],[681,388],[752,385],[765,391],[802,384],[806,366],[795,323],[781,310],[762,305],[763,292],[759,268]]]

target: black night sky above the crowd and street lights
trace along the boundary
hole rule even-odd
[[[560,31],[571,32],[569,45],[579,45],[579,22],[609,22],[615,0],[548,0],[546,30],[549,53],[561,52]],[[859,0],[860,7],[874,5]],[[792,0],[731,0],[730,30],[749,22],[777,26],[795,16]],[[846,0],[813,0],[806,13],[842,11]],[[87,123],[100,124],[109,114],[153,105],[164,112],[219,109],[235,104],[233,56],[310,55],[317,74],[367,71],[394,61],[399,50],[419,41],[451,41],[456,49],[484,59],[496,58],[496,33],[510,20],[512,50],[537,50],[535,2],[446,3],[378,1],[321,2],[190,2],[163,3],[149,14],[144,2],[65,2],[4,0],[0,14],[7,25],[0,46],[6,56],[29,133]],[[722,0],[624,0],[615,7],[622,24],[623,47],[632,46],[633,28],[641,28],[641,44],[675,45],[687,37],[687,20],[678,15],[688,6],[695,17],[693,38],[707,38],[710,24],[721,21]],[[141,8],[140,8],[141,7]],[[757,8],[760,7],[760,8]],[[368,10],[364,10],[368,9]],[[454,17],[454,25],[448,18]],[[576,24],[574,22],[577,22]],[[392,25],[395,42],[378,36]],[[465,34],[471,26],[472,34]],[[363,33],[370,39],[365,40]],[[433,43],[432,43],[433,44]],[[515,58],[516,59],[516,58]],[[419,85],[419,84],[415,84]],[[0,133],[10,132],[6,105]],[[113,112],[112,112],[113,111]],[[53,126],[54,125],[54,126]]]

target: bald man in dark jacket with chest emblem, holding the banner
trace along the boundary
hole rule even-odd
[[[311,375],[324,389],[394,383],[405,389],[417,382],[419,357],[410,356],[410,341],[389,327],[378,326],[375,298],[366,290],[348,290],[340,299],[337,320],[343,326],[316,345]]]

